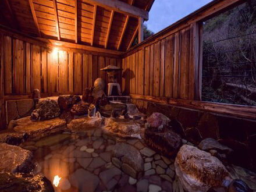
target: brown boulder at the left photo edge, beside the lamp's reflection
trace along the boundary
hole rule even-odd
[[[34,168],[32,156],[33,154],[28,150],[2,143],[0,144],[0,172],[29,173]]]

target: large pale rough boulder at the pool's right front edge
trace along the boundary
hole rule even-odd
[[[219,159],[191,145],[183,145],[175,159],[176,175],[186,191],[222,186],[229,173]]]

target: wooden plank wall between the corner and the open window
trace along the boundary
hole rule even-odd
[[[122,59],[123,92],[195,99],[193,24]]]

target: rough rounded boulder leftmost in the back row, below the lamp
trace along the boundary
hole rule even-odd
[[[35,110],[31,113],[32,120],[54,119],[61,115],[58,104],[53,99],[45,99],[35,106]]]

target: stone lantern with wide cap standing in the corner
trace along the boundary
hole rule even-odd
[[[120,84],[118,83],[118,73],[121,69],[117,66],[109,65],[101,70],[108,74],[108,96],[122,95]]]

